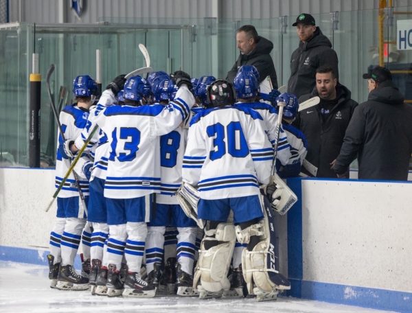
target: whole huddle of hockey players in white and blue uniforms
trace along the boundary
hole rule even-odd
[[[95,106],[94,80],[73,81],[56,187],[74,160],[78,183],[69,174],[58,194],[52,288],[258,300],[290,289],[275,264],[273,209],[286,203],[273,167],[297,176],[306,139],[290,125],[295,95],[273,90],[264,102],[258,75],[244,65],[233,84],[183,71],[117,76]]]

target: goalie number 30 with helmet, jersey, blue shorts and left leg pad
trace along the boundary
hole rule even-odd
[[[269,183],[273,159],[262,116],[233,106],[233,86],[216,80],[207,91],[211,108],[192,119],[183,159],[183,181],[197,187],[198,218],[206,221],[193,285],[201,299],[229,290],[233,222],[257,225],[264,217],[260,186]]]

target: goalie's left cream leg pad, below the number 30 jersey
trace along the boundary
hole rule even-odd
[[[209,228],[209,224],[199,250],[193,287],[197,288],[200,281],[207,292],[222,292],[230,288],[227,273],[236,241],[235,229],[233,224],[219,223],[216,228]]]

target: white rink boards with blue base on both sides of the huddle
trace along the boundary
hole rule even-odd
[[[277,216],[290,295],[412,312],[412,183],[293,178]],[[0,259],[46,264],[53,170],[0,169]]]

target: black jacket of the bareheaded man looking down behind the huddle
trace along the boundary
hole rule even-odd
[[[238,73],[239,67],[242,65],[253,65],[258,69],[260,80],[262,82],[267,76],[271,77],[272,86],[277,89],[277,76],[275,71],[275,65],[271,57],[271,51],[273,49],[273,43],[261,36],[258,36],[258,43],[256,43],[255,49],[250,54],[240,54],[238,60],[235,62],[230,71],[227,72],[226,80],[233,84],[233,80]]]

